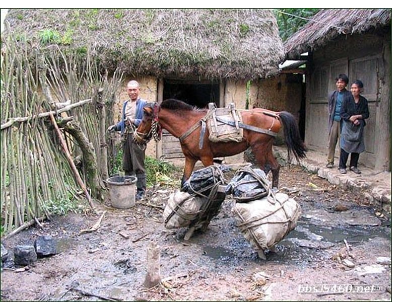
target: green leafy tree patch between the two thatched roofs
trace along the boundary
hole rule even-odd
[[[283,42],[304,26],[320,9],[274,9]]]

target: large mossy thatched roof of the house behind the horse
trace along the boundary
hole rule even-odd
[[[12,9],[6,21],[34,48],[46,51],[57,33],[59,47],[136,75],[267,78],[285,57],[276,18],[264,9]]]

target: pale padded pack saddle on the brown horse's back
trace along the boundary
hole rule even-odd
[[[209,140],[213,142],[240,142],[243,140],[242,115],[235,109],[234,103],[228,107],[216,108],[214,103],[209,103],[207,114],[207,127]]]

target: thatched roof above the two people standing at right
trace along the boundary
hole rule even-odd
[[[364,33],[392,22],[391,9],[323,9],[284,43],[287,57],[324,46],[341,35]]]

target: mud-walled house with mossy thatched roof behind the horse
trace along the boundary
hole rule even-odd
[[[272,89],[260,88],[279,74],[285,58],[276,18],[267,9],[11,9],[6,22],[2,41],[12,33],[29,43],[33,56],[37,49],[57,54],[58,47],[95,59],[103,73],[124,71],[114,120],[133,78],[148,101],[252,108],[267,99],[261,92]],[[178,140],[168,135],[150,142],[147,154],[183,157]]]

